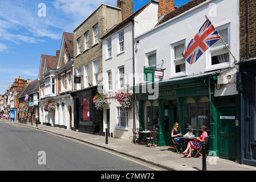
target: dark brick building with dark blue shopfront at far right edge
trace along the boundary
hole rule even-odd
[[[256,32],[254,1],[240,1],[239,126],[241,163],[256,166]]]

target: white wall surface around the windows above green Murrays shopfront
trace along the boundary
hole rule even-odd
[[[214,5],[214,6],[213,6]],[[205,22],[205,15],[208,16],[213,26],[218,29],[221,26],[229,27],[229,48],[232,51],[236,59],[239,58],[239,2],[234,0],[216,0],[207,1],[201,3],[201,5],[194,7],[193,9],[186,11],[185,13],[176,16],[162,25],[153,28],[152,30],[137,36],[135,42],[139,40],[139,48],[136,52],[136,72],[143,73],[143,67],[146,61],[146,54],[151,51],[156,51],[157,65],[164,64],[162,68],[166,68],[164,71],[163,80],[179,77],[181,75],[175,75],[172,71],[172,52],[171,46],[181,40],[185,41],[185,47],[191,39],[197,34],[200,27]],[[215,11],[216,10],[216,11]],[[214,16],[211,16],[211,15]],[[185,61],[186,76],[197,75],[203,72],[216,70],[216,67],[209,67],[209,49],[194,63],[189,65]],[[234,65],[234,59],[230,55],[230,68]],[[160,67],[160,66],[159,66]],[[159,68],[158,67],[158,68]],[[236,68],[235,68],[236,69]],[[232,71],[233,72],[233,71]],[[236,72],[236,71],[235,71]],[[184,75],[182,75],[184,76]],[[136,78],[136,84],[139,84],[139,79]],[[233,87],[233,86],[232,86]],[[216,96],[221,95],[218,93]],[[232,94],[236,94],[232,93]]]

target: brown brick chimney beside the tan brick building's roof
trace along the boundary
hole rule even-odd
[[[117,7],[122,9],[122,20],[133,14],[133,0],[117,0]]]

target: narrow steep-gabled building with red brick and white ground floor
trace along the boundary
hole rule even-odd
[[[55,127],[73,130],[73,34],[63,32],[60,46],[60,55],[57,62],[56,97],[55,102]]]

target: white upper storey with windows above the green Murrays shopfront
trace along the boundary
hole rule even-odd
[[[233,76],[237,72],[237,67],[234,67],[234,59],[221,40],[213,44],[193,65],[189,65],[181,56],[185,47],[188,46],[188,43],[203,26],[206,20],[205,15],[208,16],[229,49],[232,50],[233,55],[238,59],[238,1],[209,0],[137,36],[135,42],[139,42],[139,44],[135,56],[136,73],[143,74],[143,67],[148,66],[148,56],[154,53],[156,55],[155,64],[159,65],[158,68],[166,68],[163,81],[177,77],[199,75],[217,69],[223,71],[222,75]],[[175,53],[178,55],[175,55]],[[213,56],[222,53],[228,54],[224,58],[226,60],[221,60],[221,63],[213,60]],[[136,79],[136,85],[141,82],[144,81]],[[236,79],[232,78],[214,96],[237,94],[234,88],[236,88]]]

